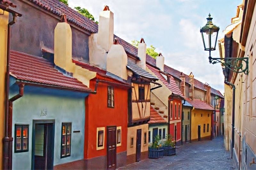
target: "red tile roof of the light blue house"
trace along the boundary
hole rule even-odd
[[[92,91],[75,78],[65,76],[42,58],[11,50],[10,74],[17,79],[60,88]]]

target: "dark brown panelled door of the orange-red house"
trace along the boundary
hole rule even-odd
[[[116,126],[107,126],[107,169],[116,169]]]

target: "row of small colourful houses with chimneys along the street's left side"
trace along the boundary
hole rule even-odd
[[[58,0],[0,2],[2,168],[115,169],[148,158],[156,135],[222,133],[221,93],[114,35],[108,6],[97,25]]]

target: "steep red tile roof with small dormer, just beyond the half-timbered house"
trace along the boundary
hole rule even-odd
[[[178,88],[174,78],[172,76],[170,76],[170,84],[167,82],[167,80],[162,76],[162,74],[160,73],[160,70],[158,70],[157,68],[155,67],[152,67],[150,65],[147,64],[147,67],[156,75],[156,77],[159,78],[159,80],[161,80],[164,85],[172,91],[172,93],[174,95],[178,95],[178,96],[181,96],[181,97],[184,97],[180,91],[180,89]]]

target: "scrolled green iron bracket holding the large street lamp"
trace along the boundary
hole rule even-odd
[[[248,74],[248,57],[241,58],[212,58],[209,57],[209,62],[212,64],[221,63],[221,66],[225,66],[229,70],[235,73]],[[243,67],[245,64],[245,67]]]

